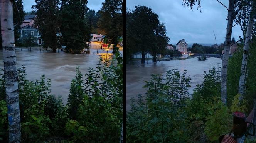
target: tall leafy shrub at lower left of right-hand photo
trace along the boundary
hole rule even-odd
[[[187,140],[187,113],[190,77],[186,71],[167,71],[165,84],[162,75],[153,74],[145,81],[146,96],[138,95],[137,104],[132,99],[127,113],[126,131],[128,142],[185,142]]]

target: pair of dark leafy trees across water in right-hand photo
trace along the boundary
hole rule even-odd
[[[141,52],[141,63],[145,62],[147,52],[150,52],[156,62],[156,55],[164,54],[169,42],[165,25],[160,23],[158,15],[146,6],[135,6],[133,11],[128,10],[126,13],[126,40],[127,57],[131,59],[131,54]]]

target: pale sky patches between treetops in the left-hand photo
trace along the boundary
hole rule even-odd
[[[104,0],[88,0],[87,7],[90,9],[95,10],[96,12],[100,10],[101,3],[104,2]],[[23,7],[25,12],[32,11],[32,5],[35,4],[35,0],[23,0]]]

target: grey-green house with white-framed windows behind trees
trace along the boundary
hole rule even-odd
[[[34,18],[36,15],[25,15],[22,25],[18,33],[20,37],[17,39],[17,42],[25,43],[28,38],[31,38],[34,44],[42,45],[41,33],[34,27]]]

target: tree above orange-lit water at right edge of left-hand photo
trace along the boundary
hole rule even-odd
[[[118,44],[118,37],[123,36],[123,1],[105,0],[101,7],[101,18],[98,21],[99,29],[104,30],[108,43],[113,44],[113,52]]]

